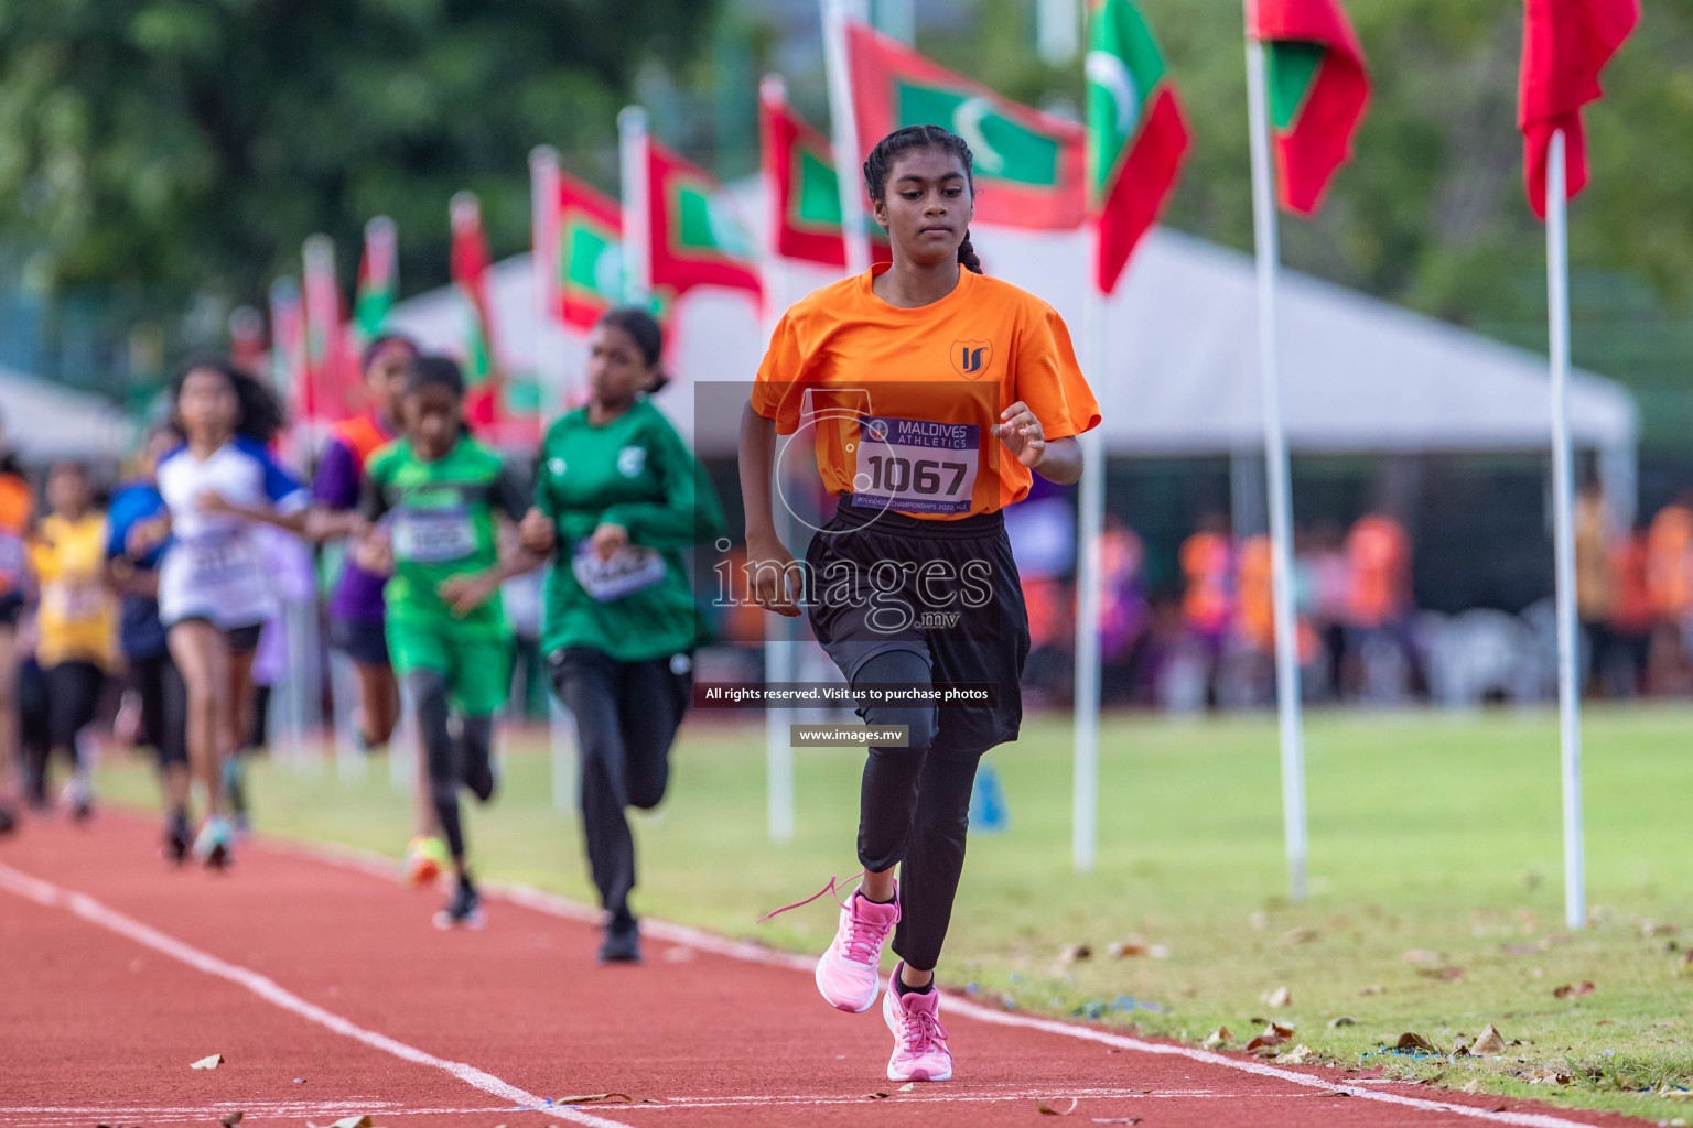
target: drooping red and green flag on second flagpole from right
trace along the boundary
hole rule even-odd
[[[1363,47],[1337,0],[1249,0],[1246,34],[1265,46],[1282,206],[1315,215],[1370,103]]]

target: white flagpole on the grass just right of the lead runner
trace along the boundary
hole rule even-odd
[[[1089,227],[1087,289],[1082,298],[1082,364],[1099,379],[1106,364],[1106,296],[1094,284],[1099,225]],[[1070,857],[1077,873],[1094,869],[1099,835],[1099,536],[1106,523],[1106,443],[1100,430],[1080,436],[1082,489],[1077,497],[1075,572],[1075,754],[1072,764]]]

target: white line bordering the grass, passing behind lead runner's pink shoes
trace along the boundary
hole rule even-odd
[[[379,859],[372,852],[354,852],[344,851],[337,846],[327,846],[320,842],[278,842],[266,841],[264,846],[271,851],[283,854],[295,854],[300,857],[317,859],[328,866],[337,866],[340,869],[354,869],[366,873],[369,876],[384,878],[393,881],[394,862],[388,859]],[[379,859],[379,861],[378,861]],[[582,905],[581,901],[572,901],[557,893],[545,893],[521,884],[494,883],[488,881],[483,890],[493,896],[505,901],[521,905],[537,913],[545,913],[549,917],[560,917],[564,920],[589,922],[596,923],[601,920],[601,913],[596,908]],[[642,934],[655,940],[669,940],[670,944],[682,944],[701,952],[711,952],[714,956],[725,956],[728,959],[738,959],[748,964],[762,964],[765,967],[787,967],[792,971],[811,972],[816,966],[816,957],[794,956],[792,952],[779,952],[775,949],[762,947],[758,944],[745,944],[740,940],[730,940],[701,928],[689,925],[679,925],[667,920],[653,920],[650,917],[642,918]],[[1305,1089],[1321,1089],[1329,1092],[1344,1092],[1349,1098],[1359,1098],[1365,1101],[1380,1101],[1383,1104],[1397,1104],[1400,1108],[1414,1108],[1426,1113],[1451,1113],[1454,1116],[1470,1116],[1473,1120],[1485,1120],[1495,1125],[1515,1125],[1517,1128],[1598,1128],[1588,1121],[1568,1120],[1564,1116],[1547,1116],[1544,1113],[1495,1113],[1486,1108],[1476,1108],[1473,1104],[1454,1104],[1451,1101],[1429,1101],[1426,1098],[1403,1096],[1398,1092],[1381,1092],[1376,1089],[1365,1089],[1356,1084],[1346,1084],[1339,1079],[1327,1079],[1315,1074],[1300,1074],[1292,1069],[1277,1069],[1275,1065],[1266,1065],[1263,1062],[1227,1057],[1224,1054],[1212,1054],[1210,1050],[1200,1050],[1187,1045],[1170,1045],[1163,1042],[1143,1042],[1141,1038],[1129,1038],[1117,1033],[1107,1033],[1106,1030],[1095,1030],[1092,1027],[1078,1027],[1073,1023],[1055,1021],[1050,1018],[1034,1018],[1029,1015],[1014,1015],[1007,1011],[992,1010],[982,1006],[980,1003],[972,1003],[970,999],[960,998],[957,994],[946,996],[946,1013],[962,1015],[965,1018],[973,1018],[977,1021],[992,1023],[995,1027],[1016,1027],[1021,1030],[1040,1030],[1043,1033],[1058,1035],[1062,1038],[1080,1038],[1085,1042],[1097,1042],[1100,1045],[1109,1045],[1119,1050],[1133,1050],[1136,1054],[1155,1054],[1161,1057],[1185,1057],[1188,1060],[1202,1062],[1205,1065],[1221,1065],[1224,1069],[1234,1069],[1244,1074],[1256,1074],[1260,1077],[1273,1077],[1278,1081],[1287,1081],[1290,1084],[1302,1086]],[[657,1108],[657,1106],[647,1106]]]

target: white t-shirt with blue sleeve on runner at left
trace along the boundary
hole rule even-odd
[[[274,607],[269,570],[245,517],[200,509],[200,496],[235,506],[305,509],[312,496],[251,438],[235,438],[200,460],[178,446],[159,460],[159,496],[171,511],[171,543],[159,565],[159,619],[210,619],[223,629],[264,622]]]

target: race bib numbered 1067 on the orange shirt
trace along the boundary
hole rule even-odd
[[[865,416],[853,458],[852,492],[860,506],[968,512],[982,462],[982,426]]]

